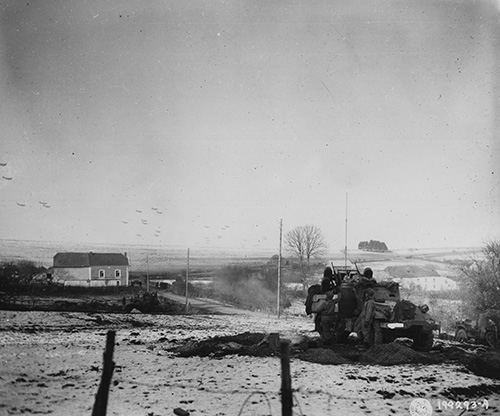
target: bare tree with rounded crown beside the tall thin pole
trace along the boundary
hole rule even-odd
[[[305,285],[311,258],[324,254],[326,250],[323,234],[315,225],[301,225],[286,234],[285,245],[299,260],[302,283]]]

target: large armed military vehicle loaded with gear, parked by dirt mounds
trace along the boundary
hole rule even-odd
[[[427,305],[417,306],[402,300],[397,282],[376,282],[374,279],[367,279],[357,267],[335,267],[332,264],[332,268],[333,280],[339,288],[338,294],[333,295],[332,299],[336,303],[336,319],[331,320],[334,328],[328,325],[326,328],[324,325],[317,327],[321,339],[344,342],[349,334],[359,332],[364,293],[371,288],[374,293],[376,330],[370,343],[388,343],[396,338],[410,338],[416,350],[429,351],[432,348],[433,331],[439,330],[440,326],[429,316]],[[320,304],[315,303],[326,302],[326,298],[325,294],[313,295],[310,310],[321,310]]]

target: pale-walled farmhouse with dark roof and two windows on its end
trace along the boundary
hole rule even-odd
[[[68,286],[127,286],[127,253],[57,253],[51,274]]]

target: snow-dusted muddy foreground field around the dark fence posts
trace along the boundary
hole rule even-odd
[[[426,354],[404,340],[324,348],[305,316],[120,315],[0,311],[0,414],[90,414],[108,329],[117,331],[110,415],[279,415],[280,361],[270,333],[291,340],[296,414],[435,414],[449,400],[498,414],[498,355],[438,341]]]

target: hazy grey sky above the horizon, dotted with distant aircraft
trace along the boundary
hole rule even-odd
[[[500,238],[494,1],[0,2],[0,238]],[[138,212],[140,211],[140,212]]]

